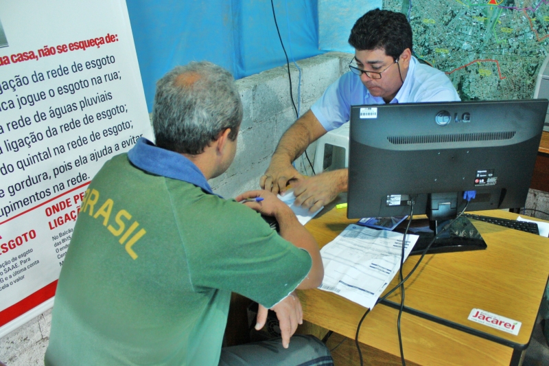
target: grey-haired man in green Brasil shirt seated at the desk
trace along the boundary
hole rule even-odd
[[[86,190],[45,364],[331,365],[318,339],[294,336],[288,348],[302,321],[294,289],[323,278],[314,238],[270,192],[225,200],[207,183],[235,157],[242,103],[231,74],[176,67],[157,84],[153,114],[156,146],[140,139]],[[256,328],[274,310],[282,340],[222,349],[232,292],[260,304]]]

